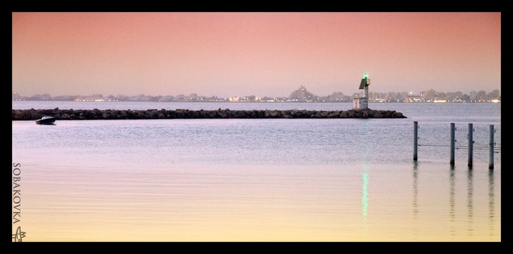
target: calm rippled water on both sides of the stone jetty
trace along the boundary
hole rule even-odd
[[[13,102],[13,109],[55,107],[352,104]],[[23,211],[13,233],[21,226],[23,241],[501,241],[501,104],[369,107],[408,119],[13,121]]]

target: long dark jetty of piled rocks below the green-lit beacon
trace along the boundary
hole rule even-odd
[[[189,109],[13,109],[12,121],[37,120],[43,116],[57,120],[123,120],[123,119],[276,119],[276,118],[406,118],[395,110],[189,110]]]

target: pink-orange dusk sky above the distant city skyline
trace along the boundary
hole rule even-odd
[[[500,12],[13,12],[21,95],[501,90]]]

